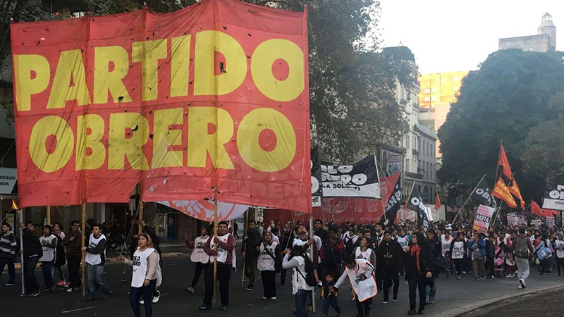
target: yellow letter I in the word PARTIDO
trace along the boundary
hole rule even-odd
[[[190,35],[173,37],[171,44],[171,97],[188,96]]]

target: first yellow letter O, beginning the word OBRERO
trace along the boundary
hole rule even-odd
[[[56,142],[47,144],[48,137],[51,137],[51,135],[54,136]],[[51,141],[55,140],[51,139]],[[59,116],[43,117],[35,123],[31,130],[31,159],[37,168],[46,173],[52,173],[65,166],[73,155],[74,147],[73,130]]]

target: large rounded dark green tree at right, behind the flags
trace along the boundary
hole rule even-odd
[[[472,188],[487,173],[486,180],[493,186],[499,143],[503,140],[524,198],[541,196],[542,176],[548,171],[525,170],[522,153],[529,130],[556,117],[550,101],[556,102],[551,97],[557,98],[554,96],[564,87],[563,56],[562,52],[496,51],[465,78],[458,101],[439,129],[441,182],[460,180]],[[556,132],[556,128],[553,130]],[[531,138],[538,135],[537,130],[532,130]],[[554,159],[564,160],[561,156]]]

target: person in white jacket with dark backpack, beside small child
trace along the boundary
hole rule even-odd
[[[290,253],[292,259],[290,259]],[[312,287],[305,282],[305,259],[304,249],[301,245],[295,244],[290,249],[284,250],[282,268],[287,270],[292,268],[292,294],[294,294],[294,306],[296,317],[307,317],[307,295]]]

